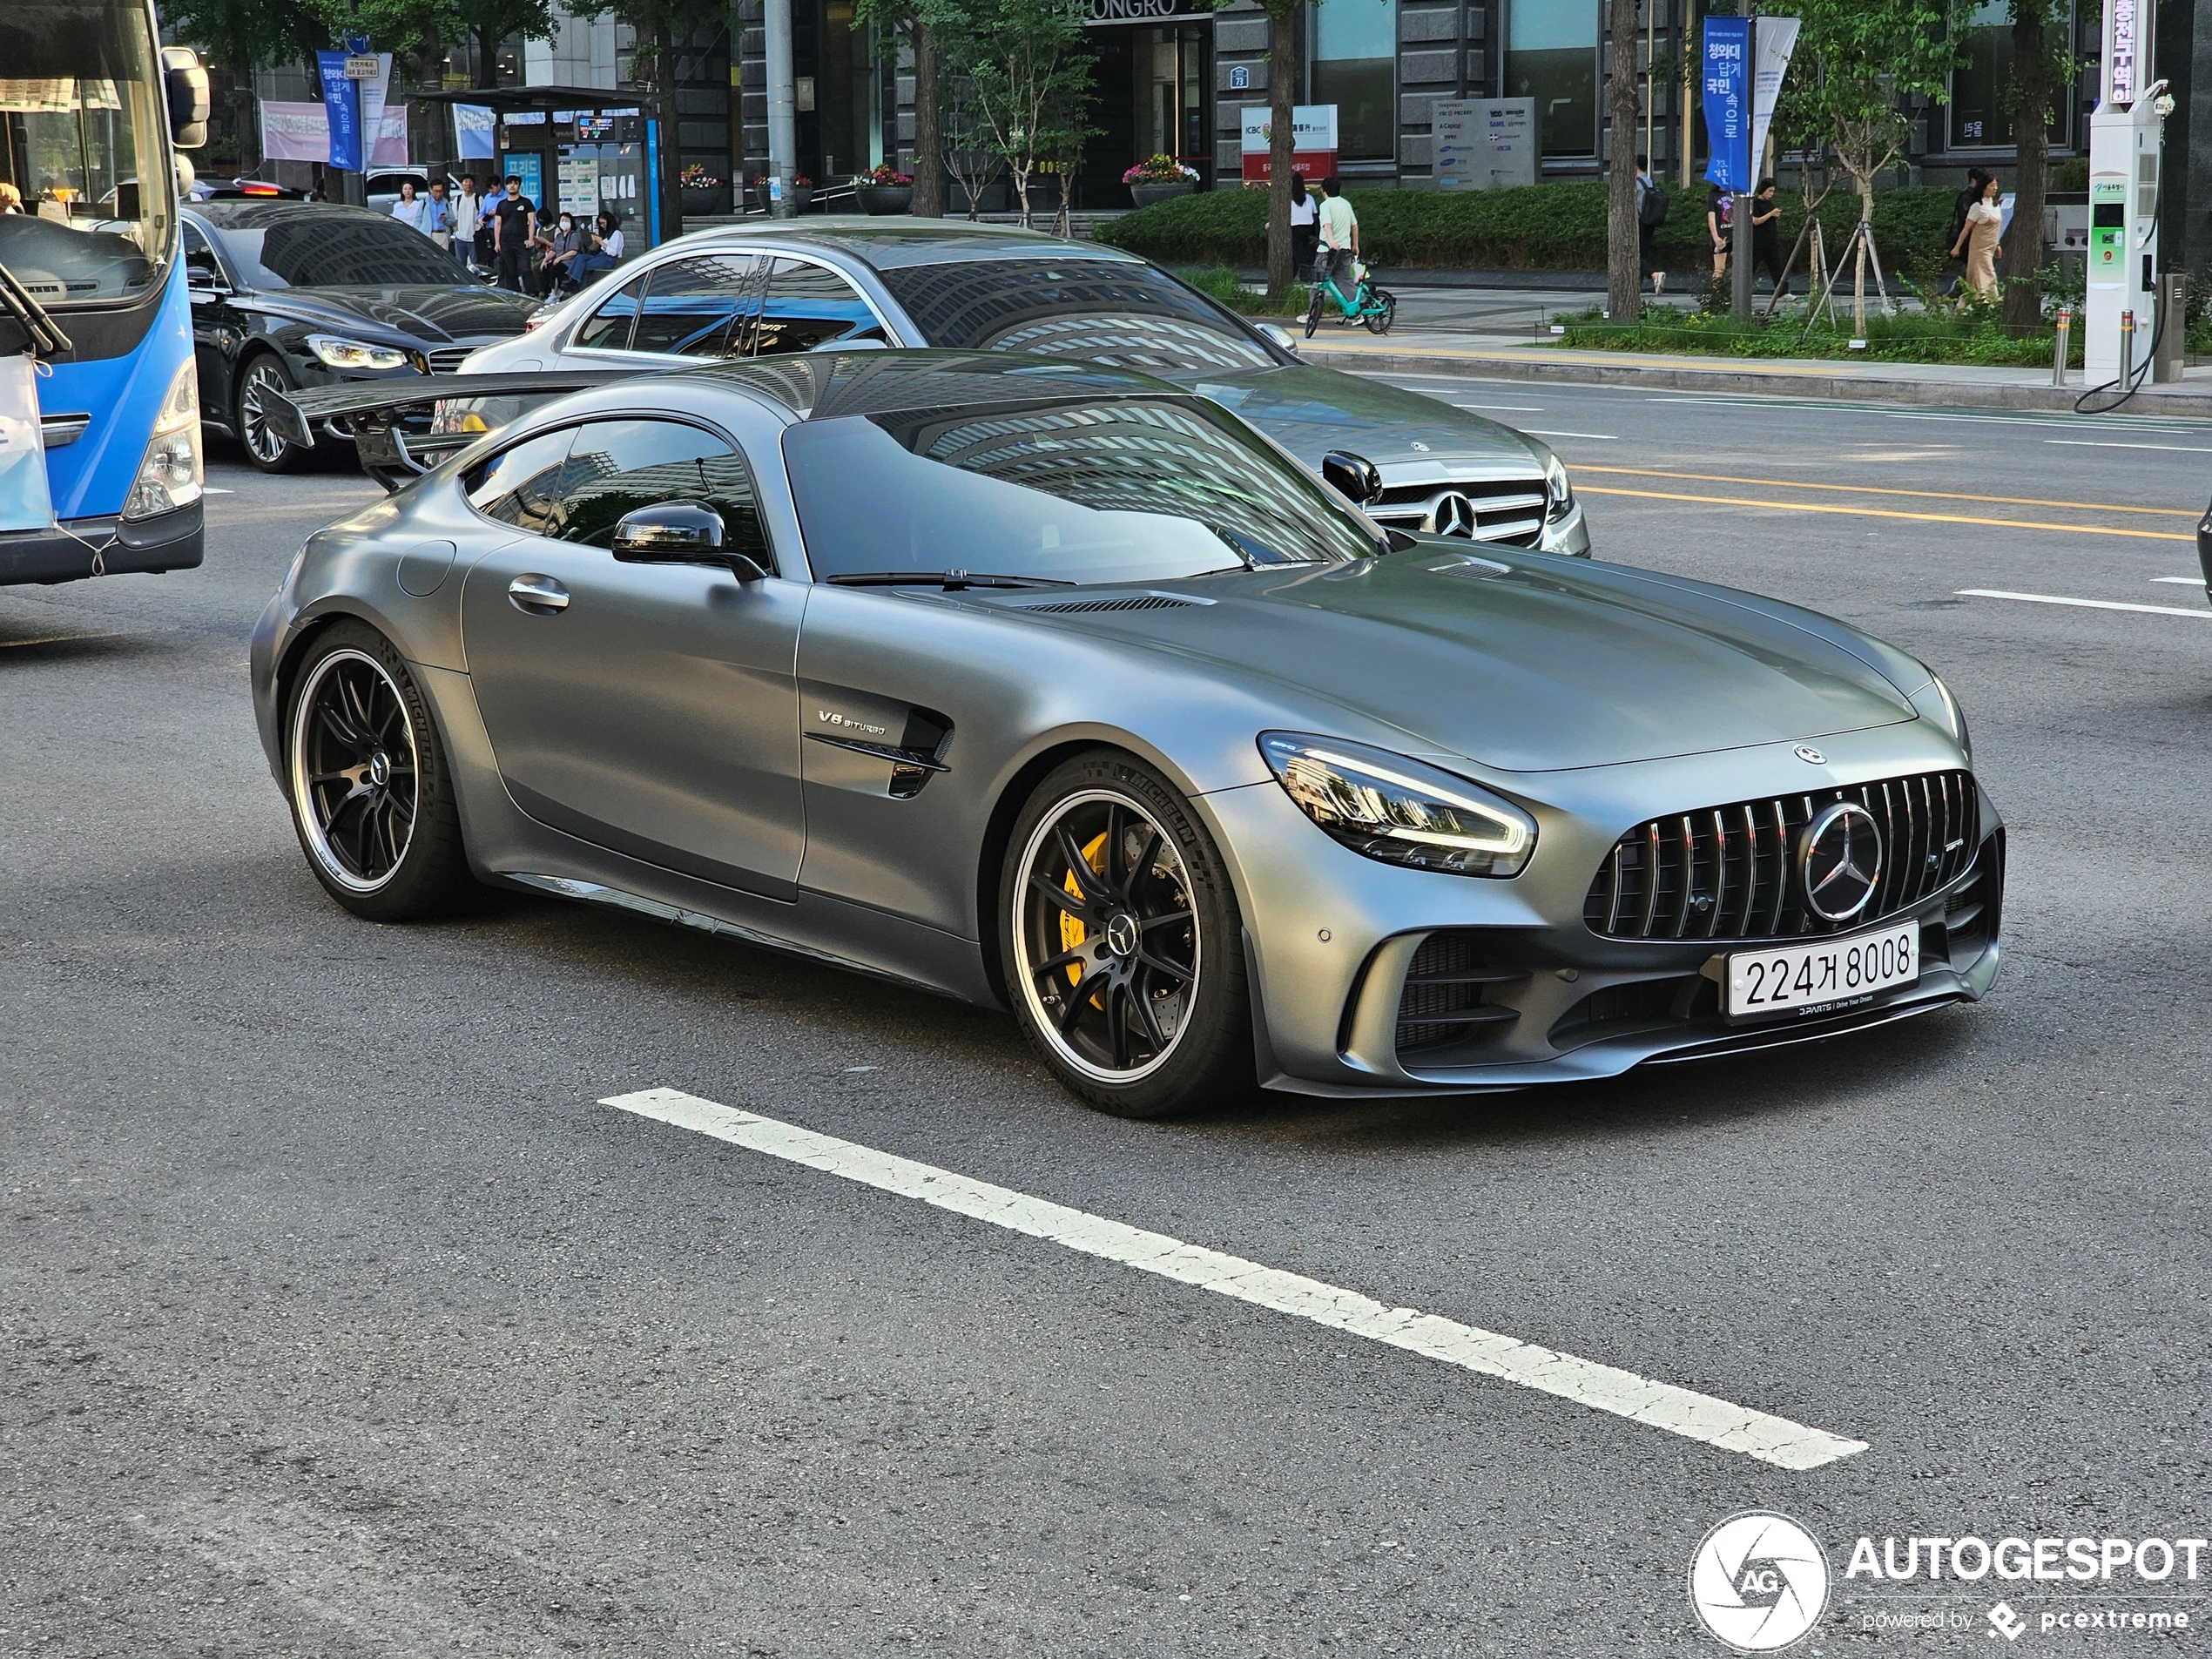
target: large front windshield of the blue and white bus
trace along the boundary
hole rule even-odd
[[[175,248],[168,115],[146,9],[0,4],[0,263],[42,305],[113,305],[155,288]]]

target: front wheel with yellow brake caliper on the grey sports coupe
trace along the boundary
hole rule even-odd
[[[1252,1093],[1237,896],[1206,825],[1150,768],[1086,754],[1037,787],[1000,927],[1015,1018],[1079,1099],[1168,1117]]]

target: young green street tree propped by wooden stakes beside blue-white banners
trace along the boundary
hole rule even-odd
[[[1867,254],[1874,234],[1874,181],[1905,153],[1911,119],[1905,100],[1942,100],[1958,66],[1971,0],[1796,0],[1803,20],[1792,73],[1814,122],[1858,190],[1851,327],[1867,327]]]

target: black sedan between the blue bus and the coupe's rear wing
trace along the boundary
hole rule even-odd
[[[538,310],[396,219],[327,201],[197,204],[184,250],[201,418],[261,471],[303,460],[270,392],[451,369]]]

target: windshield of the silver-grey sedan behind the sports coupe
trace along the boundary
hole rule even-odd
[[[883,285],[929,345],[1035,352],[1128,369],[1265,369],[1261,338],[1164,270],[1121,259],[896,265]]]

